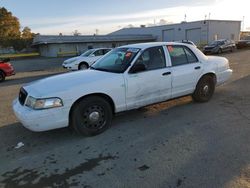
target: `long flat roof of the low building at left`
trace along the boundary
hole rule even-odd
[[[33,45],[61,44],[61,43],[96,43],[122,41],[155,41],[153,35],[37,35]]]

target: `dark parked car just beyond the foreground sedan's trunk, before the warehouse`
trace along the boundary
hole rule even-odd
[[[220,54],[222,52],[231,51],[233,52],[236,49],[235,42],[232,40],[221,39],[216,40],[203,48],[204,54]]]

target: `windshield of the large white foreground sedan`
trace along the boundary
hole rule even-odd
[[[116,48],[98,60],[92,69],[122,73],[133,61],[136,54],[140,51],[138,48]]]

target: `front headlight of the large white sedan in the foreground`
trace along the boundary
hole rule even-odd
[[[25,103],[26,106],[35,109],[42,110],[48,108],[57,108],[63,106],[63,102],[60,98],[47,98],[47,99],[36,99],[34,97],[29,96]]]

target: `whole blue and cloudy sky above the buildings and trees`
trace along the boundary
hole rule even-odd
[[[203,19],[239,20],[250,30],[250,0],[0,0],[40,34],[108,34],[129,25],[152,26]],[[186,15],[186,16],[185,16]]]

